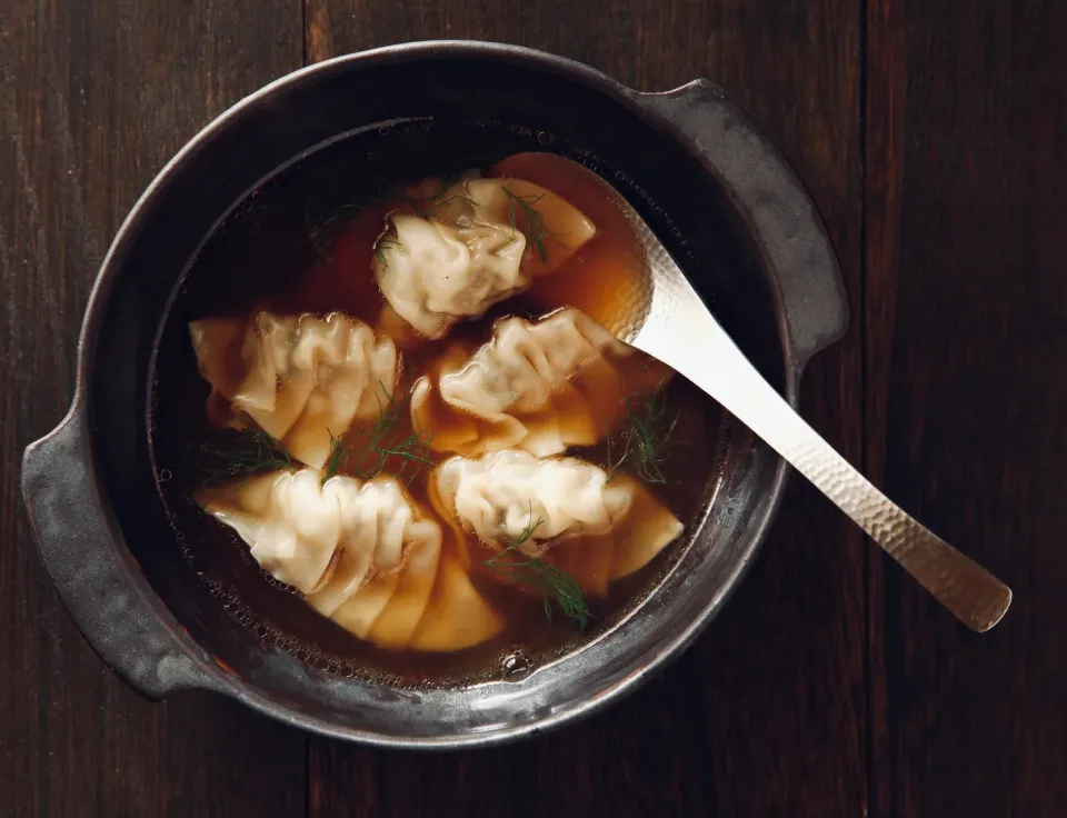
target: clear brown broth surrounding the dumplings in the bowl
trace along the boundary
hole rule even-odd
[[[539,593],[500,581],[483,565],[492,552],[478,550],[473,542],[470,577],[502,616],[500,632],[476,647],[448,654],[377,647],[316,612],[299,592],[261,570],[231,529],[200,510],[195,493],[203,481],[202,460],[225,448],[232,432],[219,432],[209,422],[206,402],[210,389],[198,372],[189,322],[269,309],[282,315],[340,311],[377,326],[385,301],[371,272],[375,242],[387,212],[397,207],[396,191],[405,184],[468,169],[521,179],[570,202],[598,232],[561,269],[536,278],[530,289],[493,305],[481,317],[456,323],[443,338],[413,345],[401,341],[402,367],[395,395],[406,396],[450,345],[488,341],[496,319],[536,319],[574,307],[610,329],[625,305],[645,297],[647,270],[637,239],[626,217],[594,180],[576,174],[547,153],[515,154],[507,138],[485,134],[480,141],[471,141],[460,130],[452,133],[441,123],[435,128],[439,154],[426,154],[425,134],[416,151],[402,133],[369,131],[316,152],[252,192],[208,238],[187,272],[161,337],[152,400],[160,492],[185,556],[212,592],[259,638],[298,658],[345,676],[383,678],[397,685],[448,684],[498,675],[506,657],[509,667],[516,661],[536,665],[618,621],[669,569],[706,507],[724,423],[717,406],[681,377],[672,378],[661,392],[656,392],[660,386],[656,382],[649,383],[647,395],[632,396],[635,409],[640,410],[639,402],[656,395],[662,420],[670,423],[669,439],[662,441],[657,459],[657,481],[646,488],[682,522],[685,533],[645,568],[612,582],[607,597],[587,596],[590,619],[584,632],[558,608],[548,606],[552,616],[546,616]],[[417,158],[413,163],[409,161],[412,156]],[[463,158],[458,167],[456,157]],[[402,174],[387,172],[395,168],[406,170]],[[360,426],[357,421],[353,431]],[[407,435],[410,427],[409,413],[398,412],[395,433]],[[572,447],[565,456],[609,466],[625,447],[625,431],[624,421],[609,438]],[[449,457],[429,452],[435,463]],[[401,465],[392,458],[385,472],[395,473]],[[431,509],[431,469],[407,472],[411,475],[407,491]],[[445,520],[441,523],[442,529],[448,528]],[[566,549],[581,545],[581,538],[564,542],[550,549],[546,559],[566,563]],[[446,536],[443,548],[455,547]]]

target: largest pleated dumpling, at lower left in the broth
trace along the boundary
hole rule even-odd
[[[319,614],[387,648],[458,650],[499,632],[440,526],[392,477],[272,472],[198,496]]]

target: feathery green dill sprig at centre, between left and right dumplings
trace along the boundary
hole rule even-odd
[[[343,437],[335,438],[330,435],[330,458],[323,480],[341,472],[370,480],[385,470],[390,457],[397,457],[403,462],[396,477],[410,485],[423,466],[432,466],[430,443],[433,436],[415,432],[403,435],[396,428],[400,419],[408,413],[409,401],[409,397],[398,400],[396,395],[381,383],[378,419],[365,426],[355,440],[346,441]],[[347,437],[350,438],[351,432]],[[408,471],[409,467],[412,467],[411,471]]]

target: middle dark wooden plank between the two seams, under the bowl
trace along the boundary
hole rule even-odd
[[[308,54],[427,38],[547,49],[635,87],[731,89],[811,187],[859,311],[860,10],[609,0],[310,0]],[[858,325],[818,361],[804,410],[861,457]],[[416,756],[312,739],[312,814],[861,815],[866,800],[864,543],[796,482],[724,616],[632,698],[558,735]]]

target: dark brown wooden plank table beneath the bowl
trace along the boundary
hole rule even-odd
[[[0,815],[1067,815],[1063,0],[0,0]],[[851,329],[804,413],[1015,589],[957,625],[794,479],[724,615],[639,694],[451,755],[141,700],[33,552],[22,448],[71,397],[120,220],[226,107],[302,64],[518,42],[728,88],[810,188]]]

